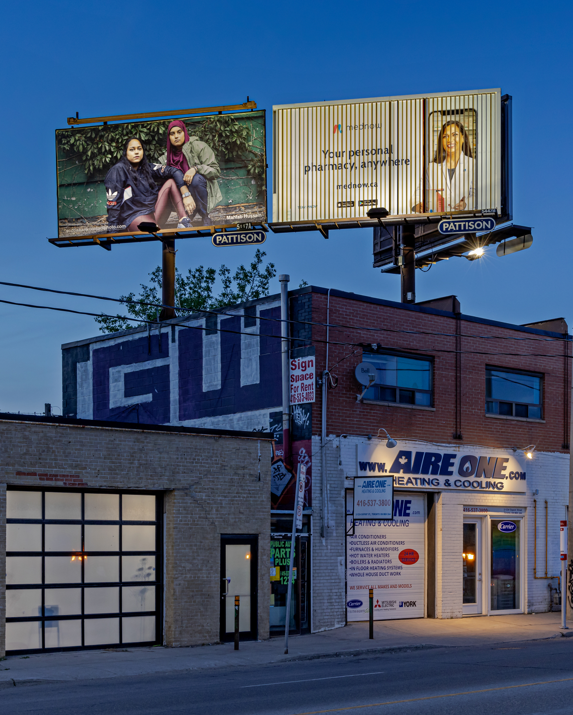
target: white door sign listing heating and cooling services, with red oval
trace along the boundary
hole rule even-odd
[[[356,521],[347,536],[347,618],[367,621],[424,617],[424,498],[399,494],[391,519]]]

